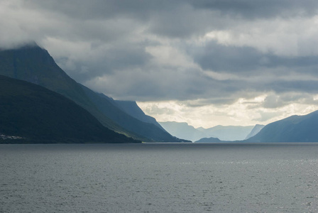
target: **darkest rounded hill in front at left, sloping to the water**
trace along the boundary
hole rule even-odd
[[[140,143],[102,126],[70,99],[0,75],[0,143]]]

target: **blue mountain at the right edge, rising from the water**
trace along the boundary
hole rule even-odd
[[[247,142],[318,142],[318,111],[275,121]]]

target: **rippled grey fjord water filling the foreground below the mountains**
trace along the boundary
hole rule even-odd
[[[318,212],[318,144],[0,145],[0,212]]]

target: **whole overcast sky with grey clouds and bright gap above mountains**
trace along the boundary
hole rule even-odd
[[[0,48],[158,121],[268,124],[318,109],[317,0],[0,0]]]

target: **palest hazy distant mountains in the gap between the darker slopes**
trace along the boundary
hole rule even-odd
[[[200,138],[219,138],[221,141],[238,141],[246,138],[253,126],[214,126],[209,129],[195,129],[187,123],[174,121],[159,122],[163,128],[178,138],[197,141]]]

